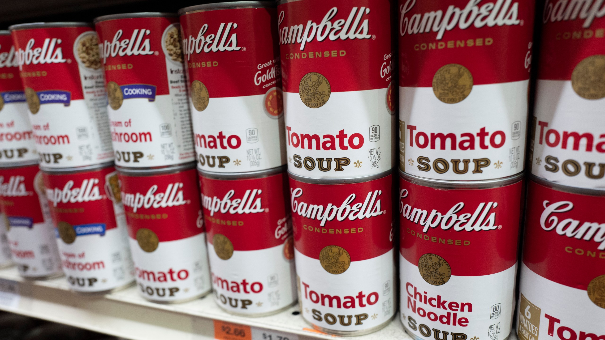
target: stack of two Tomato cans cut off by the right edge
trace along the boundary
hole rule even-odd
[[[517,335],[597,338],[605,333],[605,11],[598,1],[544,6]]]

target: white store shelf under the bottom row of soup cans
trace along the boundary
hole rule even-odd
[[[26,280],[15,267],[0,269],[0,284],[12,285],[18,291],[18,296],[13,297],[13,307],[10,293],[0,295],[2,310],[132,340],[214,339],[214,320],[249,325],[253,327],[252,333],[270,330],[295,334],[299,340],[339,338],[318,333],[301,315],[292,315],[298,311],[298,305],[276,315],[247,318],[224,312],[211,295],[182,304],[155,304],[141,298],[133,286],[107,295],[87,296],[70,292],[65,277]],[[411,340],[397,318],[378,332],[353,339]],[[257,338],[253,336],[252,340]]]

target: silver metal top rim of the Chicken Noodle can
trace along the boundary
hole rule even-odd
[[[418,177],[407,174],[399,170],[399,176],[410,183],[429,186],[435,189],[458,189],[458,190],[473,190],[473,189],[493,189],[502,186],[511,185],[523,180],[525,172],[508,177],[495,178],[492,180],[477,180],[477,181],[448,181],[448,180],[432,180],[429,178]]]

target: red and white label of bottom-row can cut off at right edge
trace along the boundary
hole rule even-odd
[[[534,181],[528,191],[519,338],[604,336],[605,197]]]

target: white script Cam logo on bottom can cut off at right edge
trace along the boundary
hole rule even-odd
[[[574,209],[572,201],[558,201],[551,203],[548,200],[542,202],[544,211],[540,215],[540,226],[546,231],[555,230],[558,235],[565,235],[578,240],[593,241],[600,243],[598,250],[605,250],[605,223],[583,222],[573,218],[565,218],[559,221],[558,213]]]

